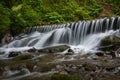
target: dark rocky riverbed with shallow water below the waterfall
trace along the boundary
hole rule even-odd
[[[68,45],[10,52],[0,60],[0,80],[119,80],[119,46],[113,36],[94,53],[75,53]]]

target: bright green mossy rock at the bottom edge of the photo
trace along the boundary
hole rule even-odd
[[[51,80],[82,80],[82,79],[74,76],[55,73],[51,76]]]

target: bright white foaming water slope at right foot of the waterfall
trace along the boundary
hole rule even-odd
[[[99,46],[101,40],[107,36],[113,36],[114,34],[118,33],[119,30],[107,31],[105,33],[97,33],[87,36],[81,44],[77,46],[71,45],[71,48],[74,50],[75,53],[94,53],[96,52],[96,47]]]

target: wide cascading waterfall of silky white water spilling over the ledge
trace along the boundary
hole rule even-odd
[[[59,44],[71,45],[79,51],[93,50],[100,41],[116,33],[120,28],[120,17],[80,21],[61,25],[36,26],[27,28],[27,36],[1,47],[0,51],[24,51],[41,49]]]

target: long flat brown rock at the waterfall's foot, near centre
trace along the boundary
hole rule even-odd
[[[70,48],[68,45],[57,45],[57,46],[51,46],[51,47],[40,49],[40,50],[38,50],[38,52],[42,52],[42,53],[58,53],[58,52],[63,52],[68,48]]]

